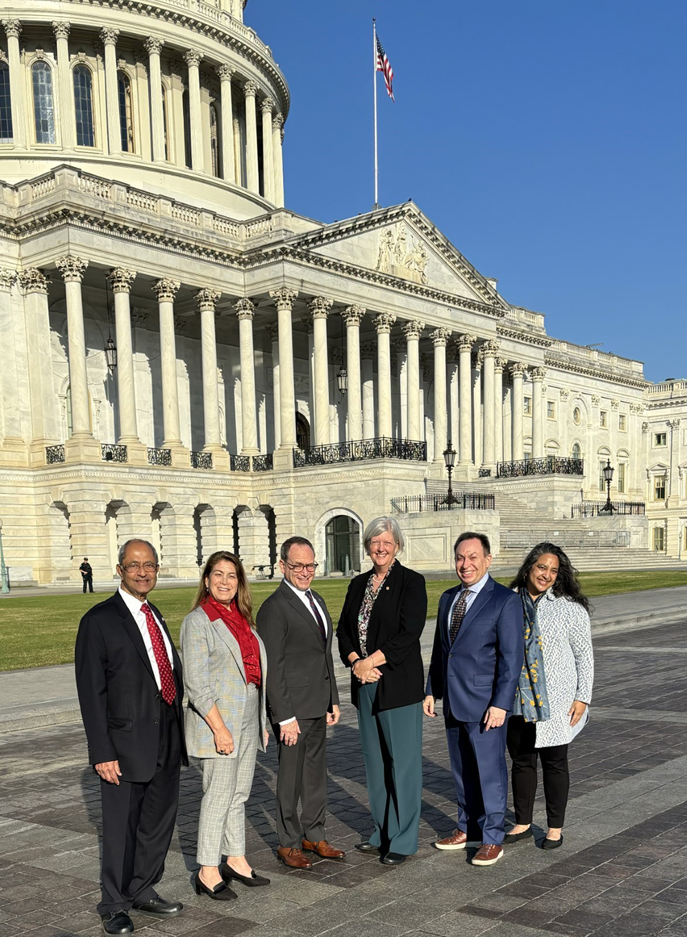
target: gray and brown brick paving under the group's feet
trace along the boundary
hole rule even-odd
[[[524,840],[489,869],[469,853],[431,848],[455,825],[441,720],[425,721],[420,850],[398,869],[361,855],[370,832],[355,712],[343,706],[329,741],[329,840],[343,863],[295,872],[274,857],[273,744],[249,801],[247,855],[269,888],[236,885],[239,900],[198,898],[190,881],[200,778],[183,771],[178,828],[160,893],[183,915],[134,915],[136,932],[230,937],[662,937],[687,935],[685,623],[614,632],[595,641],[592,720],[571,748],[563,848]],[[651,647],[655,647],[651,650]],[[344,688],[343,688],[344,690]],[[344,690],[345,695],[345,690]],[[0,935],[99,934],[99,793],[84,765],[80,723],[0,735]],[[536,840],[544,835],[537,800]]]

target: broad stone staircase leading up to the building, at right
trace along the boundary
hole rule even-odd
[[[428,495],[446,495],[448,490],[446,482],[428,479],[426,485]],[[455,492],[493,492],[500,517],[502,543],[498,556],[494,558],[494,572],[515,572],[528,551],[542,541],[563,547],[575,568],[582,572],[669,570],[678,565],[674,558],[663,553],[621,545],[623,531],[600,532],[594,529],[593,520],[542,516],[541,511],[530,506],[524,498],[499,491],[486,480],[459,482],[452,487]]]

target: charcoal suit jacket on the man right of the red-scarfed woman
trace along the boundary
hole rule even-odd
[[[327,617],[326,645],[313,615],[285,582],[262,603],[256,616],[270,662],[267,705],[272,722],[291,717],[318,719],[339,705],[331,659],[334,629],[324,600],[316,592],[313,595]]]

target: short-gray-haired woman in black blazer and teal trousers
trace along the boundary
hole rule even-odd
[[[420,635],[427,590],[424,577],[396,558],[403,535],[393,517],[377,517],[363,536],[373,569],[348,587],[336,636],[351,668],[374,821],[373,834],[356,848],[378,851],[391,866],[417,852],[425,685]]]

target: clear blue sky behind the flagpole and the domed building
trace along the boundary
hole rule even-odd
[[[286,205],[412,198],[548,334],[687,377],[685,0],[250,0],[291,89]]]

